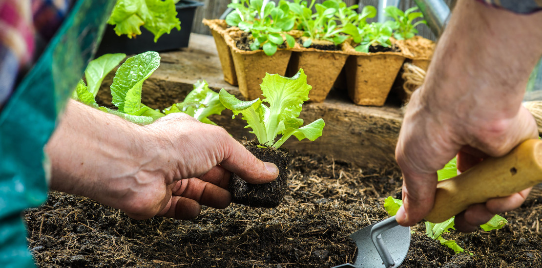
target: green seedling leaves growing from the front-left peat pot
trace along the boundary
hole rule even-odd
[[[253,38],[251,50],[263,49],[266,55],[272,56],[285,39],[289,47],[294,47],[294,37],[286,33],[293,29],[295,22],[288,4],[281,2],[276,6],[270,1],[263,6],[262,0],[233,0],[228,7],[235,11],[226,17],[226,22],[250,32]]]

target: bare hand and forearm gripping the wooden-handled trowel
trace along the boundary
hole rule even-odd
[[[542,55],[541,24],[540,12],[518,15],[476,1],[457,3],[399,134],[400,224],[414,225],[428,214],[436,171],[456,154],[459,171],[465,171],[486,156],[505,155],[521,141],[537,138],[535,121],[521,101]],[[470,206],[455,218],[457,230],[473,231],[494,214],[519,207],[529,191]]]

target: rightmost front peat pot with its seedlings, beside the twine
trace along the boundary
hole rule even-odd
[[[406,58],[416,61],[421,68],[429,65],[429,56],[419,44],[431,47],[421,37],[412,39],[416,26],[425,24],[417,7],[402,11],[395,6],[384,10],[390,19],[384,23],[359,24],[346,50],[352,55],[345,64],[347,87],[352,101],[360,105],[383,106],[397,74]],[[411,40],[412,39],[412,40]],[[405,41],[411,40],[411,41]],[[412,54],[409,48],[416,51]],[[419,51],[419,53],[418,53]]]

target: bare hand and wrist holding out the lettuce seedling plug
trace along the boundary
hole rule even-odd
[[[138,126],[70,101],[46,152],[50,187],[120,208],[134,219],[195,218],[225,208],[230,172],[253,183],[278,168],[250,154],[221,127],[172,113]]]

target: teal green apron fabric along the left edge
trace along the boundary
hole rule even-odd
[[[0,114],[0,264],[33,267],[22,211],[47,199],[43,147],[80,80],[115,1],[76,2]]]

